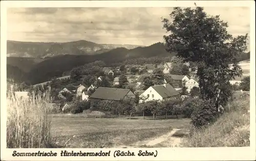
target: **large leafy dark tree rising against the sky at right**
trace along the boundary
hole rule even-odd
[[[207,16],[202,7],[174,8],[170,18],[162,19],[167,51],[176,51],[199,77],[203,100],[214,100],[215,110],[226,104],[231,95],[229,80],[242,74],[237,55],[246,50],[245,36],[233,38],[227,22],[220,16]],[[232,68],[229,68],[232,64]]]

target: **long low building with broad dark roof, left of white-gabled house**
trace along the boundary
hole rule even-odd
[[[99,100],[122,101],[128,98],[135,98],[135,94],[129,89],[99,87],[91,96],[91,107]]]

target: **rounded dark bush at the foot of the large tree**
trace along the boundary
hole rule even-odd
[[[194,128],[202,128],[216,121],[218,111],[212,100],[199,101],[191,114],[191,124]]]

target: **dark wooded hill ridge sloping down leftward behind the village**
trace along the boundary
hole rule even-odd
[[[165,47],[162,43],[156,43],[146,47],[137,47],[134,49],[120,47],[98,55],[59,55],[35,64],[28,73],[28,77],[32,84],[37,84],[48,81],[54,76],[61,76],[63,72],[69,71],[74,67],[94,61],[100,60],[107,65],[111,65],[113,63],[123,62],[127,59],[168,57],[175,55],[176,53],[165,51]]]

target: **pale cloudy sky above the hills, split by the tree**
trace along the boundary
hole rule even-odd
[[[248,8],[204,9],[227,21],[233,36],[250,33]],[[168,18],[172,11],[173,8],[9,8],[7,39],[151,45],[163,41],[161,17]]]

